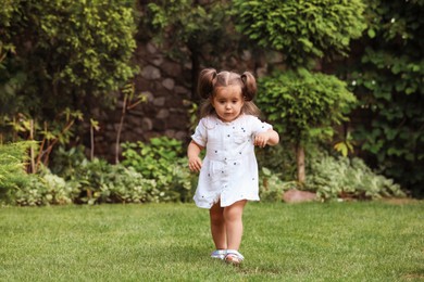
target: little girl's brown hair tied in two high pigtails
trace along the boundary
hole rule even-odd
[[[215,110],[211,104],[211,99],[216,94],[217,88],[227,86],[240,87],[241,95],[245,99],[245,104],[241,108],[244,114],[253,116],[260,115],[259,108],[252,102],[257,94],[257,80],[251,73],[245,72],[242,75],[239,75],[226,70],[217,73],[214,68],[205,68],[200,72],[197,86],[198,93],[205,100],[200,110],[200,117],[205,117],[215,113]]]

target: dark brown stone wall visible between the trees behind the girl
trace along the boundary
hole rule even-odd
[[[189,57],[189,56],[187,56]],[[147,97],[147,102],[126,112],[120,143],[148,141],[152,137],[166,136],[188,141],[188,110],[191,94],[191,63],[179,64],[167,59],[151,42],[139,42],[135,56],[140,74],[135,79],[136,93]],[[273,56],[272,63],[282,61]],[[239,57],[224,56],[220,69],[245,72],[255,76],[266,73],[267,60],[250,51],[244,51]],[[116,93],[116,95],[119,95]],[[100,123],[95,133],[95,155],[113,162],[115,159],[116,136],[122,118],[123,97],[119,97],[114,111],[101,112],[93,108],[91,114]],[[88,146],[89,148],[89,146]]]

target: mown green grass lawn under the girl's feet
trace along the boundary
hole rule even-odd
[[[424,281],[424,203],[245,209],[239,268],[192,204],[0,208],[0,281]]]

